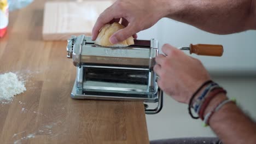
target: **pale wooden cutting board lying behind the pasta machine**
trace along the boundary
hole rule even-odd
[[[43,39],[67,40],[71,35],[90,36],[98,16],[113,1],[46,2]]]

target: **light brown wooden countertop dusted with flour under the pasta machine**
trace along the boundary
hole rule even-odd
[[[66,41],[42,40],[44,3],[11,12],[0,39],[0,73],[18,74],[27,88],[0,103],[0,142],[149,143],[142,102],[70,98],[75,67]]]

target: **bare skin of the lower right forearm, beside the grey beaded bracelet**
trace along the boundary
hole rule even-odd
[[[224,94],[218,95],[211,101],[205,114],[224,99]],[[225,144],[256,143],[256,124],[234,103],[228,103],[214,113],[210,119],[210,126]]]

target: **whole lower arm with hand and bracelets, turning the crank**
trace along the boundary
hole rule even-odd
[[[231,101],[225,104],[224,89],[210,81],[210,75],[198,59],[168,44],[162,46],[162,52],[165,55],[156,56],[154,65],[162,91],[176,101],[189,104],[189,110],[193,107],[200,118],[204,116],[225,144],[256,143],[256,124]],[[208,119],[206,113],[213,110],[216,112]]]

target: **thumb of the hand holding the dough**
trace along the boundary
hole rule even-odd
[[[137,33],[135,27],[131,24],[127,27],[120,29],[119,31],[115,32],[110,38],[109,41],[112,44],[117,44],[121,41],[124,41],[131,37],[133,34]]]

